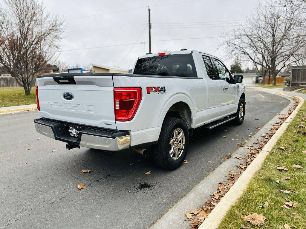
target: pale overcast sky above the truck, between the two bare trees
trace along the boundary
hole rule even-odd
[[[149,51],[147,6],[151,9],[152,53],[181,48],[200,50],[222,58],[229,67],[231,60],[222,49],[218,49],[222,38],[203,37],[222,36],[223,31],[240,23],[243,15],[251,13],[256,2],[257,0],[45,0],[44,4],[47,11],[58,13],[66,19],[62,39],[63,52],[59,60],[70,66],[76,63],[94,63],[131,69],[136,58]],[[114,11],[121,12],[111,13]],[[145,43],[135,44],[132,48],[137,39],[137,43]],[[119,46],[93,48],[111,45]]]

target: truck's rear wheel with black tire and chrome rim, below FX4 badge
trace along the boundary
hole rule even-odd
[[[166,118],[162,124],[158,143],[152,146],[155,163],[173,170],[181,166],[189,146],[189,131],[180,118]]]

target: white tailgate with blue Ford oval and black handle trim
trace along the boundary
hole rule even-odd
[[[116,129],[112,74],[37,78],[43,118]]]

